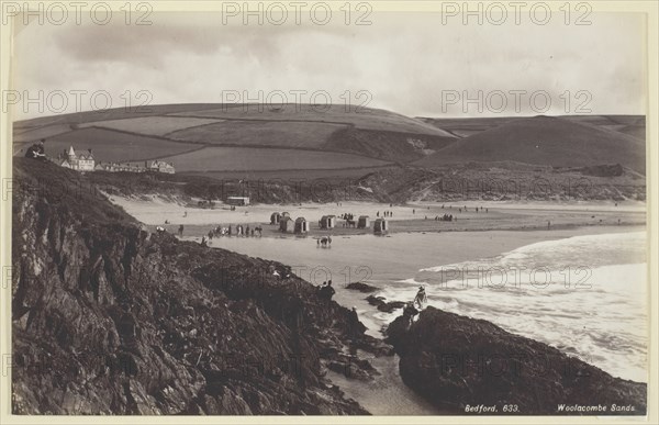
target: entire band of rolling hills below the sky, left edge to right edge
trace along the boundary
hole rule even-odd
[[[633,115],[412,119],[344,105],[153,105],[14,123],[14,155],[42,137],[51,156],[74,145],[100,161],[166,158],[179,171],[228,178],[351,178],[390,165],[507,160],[645,172],[645,118]]]

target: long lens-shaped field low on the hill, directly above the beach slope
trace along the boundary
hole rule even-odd
[[[337,169],[383,166],[388,163],[350,154],[300,149],[205,147],[165,157],[177,171],[247,171]]]

